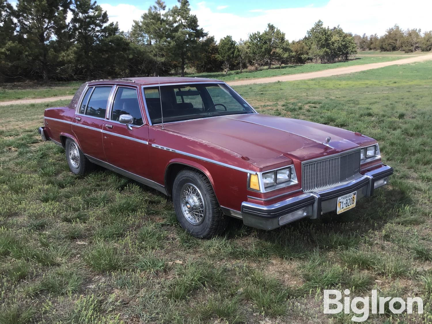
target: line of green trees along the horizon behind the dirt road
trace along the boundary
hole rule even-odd
[[[67,15],[70,14],[68,21]],[[379,37],[352,35],[320,20],[304,38],[289,41],[268,24],[248,39],[209,35],[191,14],[187,0],[167,8],[155,4],[121,32],[92,0],[0,0],[0,79],[15,81],[157,76],[186,71],[256,70],[283,64],[347,60],[358,50],[430,51],[432,32],[402,31]]]

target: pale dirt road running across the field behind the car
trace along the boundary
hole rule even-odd
[[[381,63],[371,63],[371,64],[363,64],[363,65],[353,65],[351,67],[337,67],[335,69],[328,69],[317,72],[308,72],[308,73],[299,73],[299,74],[291,74],[291,75],[281,75],[281,76],[271,76],[268,78],[259,78],[259,79],[245,79],[238,81],[228,82],[230,86],[243,86],[254,83],[270,83],[276,81],[295,81],[295,80],[305,80],[305,79],[314,79],[321,78],[324,76],[334,76],[340,74],[354,73],[365,70],[378,69],[380,67],[388,67],[389,65],[395,64],[409,64],[414,62],[423,62],[426,60],[432,60],[432,54],[420,55],[415,57],[408,57],[401,60],[395,60],[390,62],[381,62]],[[39,102],[50,102],[57,100],[66,100],[72,99],[72,95],[64,95],[59,97],[51,97],[51,98],[38,98],[38,99],[21,99],[14,101],[5,101],[0,102],[0,106],[5,105],[19,105],[19,104],[31,104],[31,103],[39,103]]]

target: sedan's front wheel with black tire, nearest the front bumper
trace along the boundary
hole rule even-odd
[[[191,222],[187,218],[190,213],[184,212],[184,209],[187,209],[187,206],[189,205],[187,203],[189,200],[182,198],[185,194],[184,188],[186,188],[186,190],[189,188],[191,190],[197,189],[199,194],[195,192],[195,195],[189,196],[194,197],[191,200],[192,202],[198,202],[196,206],[200,207],[202,204],[199,203],[201,199],[195,199],[195,197],[202,197],[204,207],[203,217],[200,218],[199,222]],[[213,191],[210,181],[205,175],[194,171],[193,169],[184,169],[180,171],[174,180],[172,200],[181,227],[183,227],[192,236],[197,238],[211,238],[222,233],[226,229],[228,216],[225,216],[220,210],[216,194]],[[191,211],[194,212],[194,207],[191,207]]]

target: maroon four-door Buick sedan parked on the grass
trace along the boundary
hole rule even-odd
[[[147,77],[84,83],[45,110],[42,139],[73,173],[102,165],[172,197],[181,226],[209,238],[227,216],[258,229],[343,213],[387,184],[376,140],[258,114],[214,79]]]

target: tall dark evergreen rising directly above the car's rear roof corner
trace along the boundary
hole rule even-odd
[[[75,0],[71,12],[70,33],[77,44],[76,68],[89,80],[106,50],[110,54],[119,54],[114,48],[102,46],[105,38],[118,34],[118,25],[113,22],[108,24],[107,12],[96,1]]]

